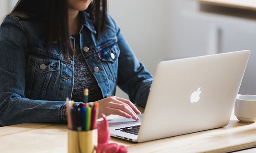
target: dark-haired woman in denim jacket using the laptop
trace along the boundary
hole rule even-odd
[[[152,75],[133,54],[107,0],[19,0],[0,27],[0,126],[66,122],[65,99],[139,120]],[[116,85],[131,101],[115,95]],[[133,102],[133,103],[131,103]]]

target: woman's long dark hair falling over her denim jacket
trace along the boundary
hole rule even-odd
[[[107,20],[107,0],[93,0],[86,11],[99,39]],[[69,49],[75,54],[69,34],[67,0],[19,0],[11,11],[17,13],[32,15],[34,21],[43,23],[48,49],[57,48],[66,60]]]

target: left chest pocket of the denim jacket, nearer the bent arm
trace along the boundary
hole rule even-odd
[[[60,60],[30,54],[26,69],[26,97],[43,99],[46,92],[54,89],[59,69]]]

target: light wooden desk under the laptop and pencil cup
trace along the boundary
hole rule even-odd
[[[138,152],[231,152],[256,147],[256,123],[241,123],[232,113],[225,127],[144,143],[112,138],[129,153]],[[116,117],[116,116],[112,116]],[[0,128],[2,153],[67,152],[67,128],[63,124],[26,123]]]

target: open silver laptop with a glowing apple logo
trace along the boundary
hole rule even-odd
[[[140,120],[108,121],[110,135],[134,142],[226,126],[250,51],[160,62]]]

